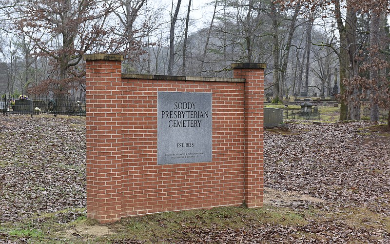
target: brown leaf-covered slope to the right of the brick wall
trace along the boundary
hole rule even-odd
[[[375,126],[374,126],[375,127]],[[265,186],[390,213],[390,137],[363,122],[265,133]]]

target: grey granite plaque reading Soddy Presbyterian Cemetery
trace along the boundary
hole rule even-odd
[[[157,164],[212,161],[212,94],[157,93]]]

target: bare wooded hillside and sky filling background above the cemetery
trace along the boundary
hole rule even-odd
[[[231,77],[267,63],[266,93],[320,97],[340,87],[340,120],[390,114],[389,1],[1,0],[0,92],[85,96],[84,54],[122,53],[124,72]],[[390,124],[390,119],[389,119]]]

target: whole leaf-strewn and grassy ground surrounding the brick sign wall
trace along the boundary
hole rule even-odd
[[[390,132],[265,131],[265,205],[85,218],[85,120],[0,119],[0,243],[390,243]]]

